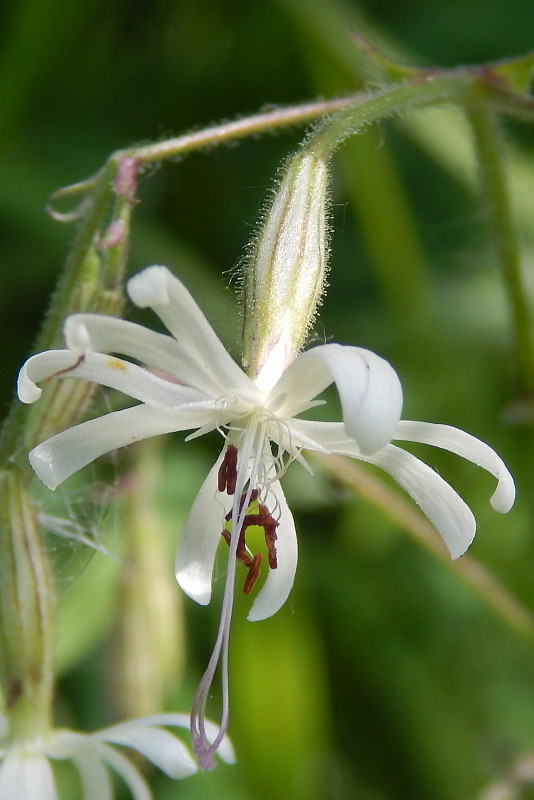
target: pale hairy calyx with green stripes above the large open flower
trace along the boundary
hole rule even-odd
[[[243,366],[267,390],[304,345],[324,290],[328,169],[313,152],[288,163],[244,280]]]

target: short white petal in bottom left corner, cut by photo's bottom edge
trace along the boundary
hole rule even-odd
[[[0,800],[57,800],[48,760],[41,755],[8,753],[0,765]]]

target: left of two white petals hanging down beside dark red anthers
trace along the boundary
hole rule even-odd
[[[176,551],[176,580],[193,600],[207,605],[211,599],[211,575],[224,523],[224,507],[217,497],[217,473],[221,453],[193,503]]]

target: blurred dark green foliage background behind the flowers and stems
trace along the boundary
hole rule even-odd
[[[521,55],[534,40],[532,0],[5,0],[0,14],[6,410],[74,235],[45,212],[53,190],[121,147],[354,91],[361,74],[351,30],[419,65]],[[167,264],[236,358],[228,271],[302,134],[295,127],[193,154],[141,182],[131,271]],[[507,125],[507,144],[510,179],[524,189],[517,224],[532,287],[532,130]],[[421,449],[477,515],[470,554],[494,583],[480,580],[475,590],[475,570],[421,546],[403,530],[407,521],[386,517],[335,476],[319,469],[312,483],[294,466],[285,482],[300,534],[293,595],[257,624],[244,621],[247,602],[237,603],[230,733],[238,764],[179,784],[153,774],[162,800],[469,800],[534,750],[531,399],[469,135],[454,114],[437,122],[410,115],[351,140],[334,171],[332,271],[317,339],[391,360],[405,416],[490,443],[514,473],[519,499],[507,517],[495,515],[491,479]],[[180,597],[172,559],[219,446],[215,436],[190,444],[176,436],[138,448],[112,466],[127,477],[105,501],[98,468],[53,500],[40,493],[45,513],[66,507],[79,531],[96,532],[118,555],[90,559],[79,542],[47,538],[63,592],[62,724],[91,729],[157,711],[150,703],[188,708],[218,606]],[[524,616],[507,614],[509,598],[500,602],[498,591],[515,596]]]

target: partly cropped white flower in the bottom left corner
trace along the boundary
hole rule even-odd
[[[51,762],[70,760],[76,767],[84,800],[112,800],[110,768],[124,780],[134,800],[150,800],[152,794],[139,769],[115,747],[122,745],[141,753],[171,778],[187,778],[197,766],[187,747],[161,726],[189,727],[186,714],[157,714],[122,722],[91,734],[69,730],[51,731],[34,741],[9,743],[5,717],[0,739],[0,800],[57,800]],[[213,723],[206,723],[212,738]],[[234,753],[224,739],[219,755],[228,763]]]

